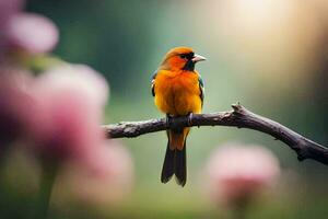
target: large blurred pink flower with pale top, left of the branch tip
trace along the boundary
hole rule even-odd
[[[61,66],[36,79],[37,125],[31,128],[39,154],[50,161],[86,158],[103,143],[99,127],[107,83],[83,66]]]

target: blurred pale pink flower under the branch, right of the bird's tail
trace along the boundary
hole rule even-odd
[[[241,145],[218,148],[206,170],[212,199],[235,207],[272,185],[280,173],[279,162],[269,150]]]

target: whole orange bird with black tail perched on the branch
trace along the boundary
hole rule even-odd
[[[190,47],[175,47],[164,56],[151,78],[151,91],[156,107],[166,114],[169,129],[167,147],[162,168],[161,182],[167,183],[175,175],[176,183],[185,186],[187,182],[186,138],[188,127],[172,127],[174,117],[199,114],[204,99],[203,80],[195,70],[204,57],[195,54]]]

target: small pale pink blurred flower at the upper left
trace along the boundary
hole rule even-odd
[[[4,34],[8,46],[28,54],[50,51],[59,37],[56,25],[49,19],[34,13],[14,14],[8,21]]]

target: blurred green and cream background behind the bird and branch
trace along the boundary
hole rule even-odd
[[[107,123],[162,116],[153,105],[150,77],[166,50],[186,45],[208,58],[197,67],[206,82],[204,112],[225,111],[230,104],[241,102],[328,145],[327,3],[229,2],[30,0],[27,11],[45,14],[58,25],[57,56],[87,64],[109,81]],[[200,171],[212,149],[225,141],[263,145],[279,157],[283,170],[292,173],[268,203],[250,209],[249,218],[327,217],[326,166],[314,161],[297,162],[293,151],[263,134],[202,127],[194,128],[188,138],[185,188],[174,182],[160,183],[166,136],[144,135],[124,140],[133,154],[136,185],[122,206],[90,206],[55,195],[51,218],[224,217],[222,210],[200,198],[203,183]],[[17,162],[21,160],[15,158]],[[9,170],[20,168],[8,165]],[[11,198],[1,193],[2,204],[5,200],[1,208],[15,211],[16,218],[28,218],[20,214],[33,205],[24,205],[33,192],[14,189],[20,187],[20,181],[28,184],[33,177],[17,176],[14,182],[4,182]],[[59,191],[65,194],[65,188]]]

